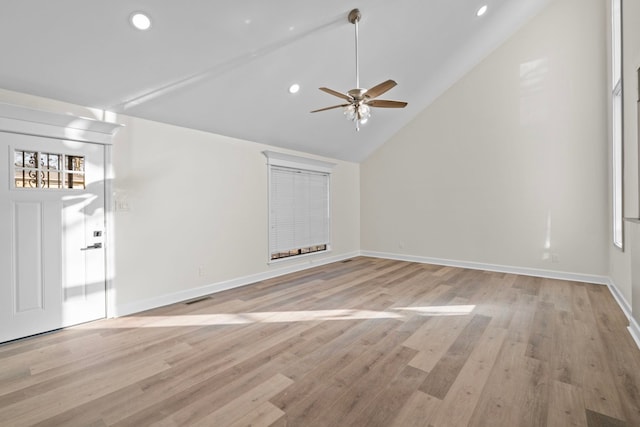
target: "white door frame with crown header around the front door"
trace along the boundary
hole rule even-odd
[[[106,114],[101,111],[102,116]],[[40,136],[67,141],[104,145],[104,206],[105,206],[105,281],[107,318],[115,309],[115,252],[113,233],[112,150],[113,137],[123,125],[104,120],[36,110],[0,102],[0,132]],[[7,165],[0,165],[0,171]],[[6,171],[11,173],[11,170]]]

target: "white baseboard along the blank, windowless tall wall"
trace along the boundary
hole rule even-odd
[[[362,256],[374,258],[396,259],[399,261],[419,262],[422,264],[446,265],[450,267],[469,268],[472,270],[495,271],[497,273],[521,274],[524,276],[544,277],[547,279],[571,280],[574,282],[596,283],[598,285],[608,285],[610,280],[606,276],[592,274],[568,273],[564,271],[542,270],[537,268],[512,267],[507,265],[484,264],[471,261],[458,261],[443,258],[430,258],[414,255],[402,255],[386,252],[362,251]]]

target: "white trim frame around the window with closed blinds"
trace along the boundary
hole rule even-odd
[[[318,254],[327,254],[331,252],[331,172],[335,163],[325,162],[317,159],[310,159],[306,157],[294,156],[291,154],[284,154],[275,151],[265,150],[262,152],[267,158],[267,264],[274,264],[279,262],[285,262],[290,260],[300,260],[310,256]],[[315,251],[309,253],[303,253],[299,255],[292,255],[283,258],[271,259],[271,178],[272,168],[287,168],[293,170],[308,171],[312,173],[321,173],[328,175],[328,188],[327,188],[327,203],[329,209],[329,242],[327,242],[326,249],[322,251]]]

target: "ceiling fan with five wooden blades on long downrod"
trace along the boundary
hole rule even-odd
[[[321,87],[320,90],[328,94],[342,98],[347,103],[332,105],[331,107],[320,108],[319,110],[313,110],[312,113],[318,111],[332,110],[334,108],[344,108],[344,115],[347,120],[351,120],[356,124],[356,130],[360,130],[360,125],[365,124],[369,117],[371,117],[371,108],[404,108],[407,106],[406,102],[402,101],[388,101],[384,99],[375,99],[389,89],[397,85],[393,80],[387,80],[380,84],[375,85],[370,89],[360,88],[360,66],[358,63],[358,22],[362,18],[358,9],[353,9],[349,12],[347,19],[350,23],[355,25],[356,33],[356,88],[351,89],[346,94],[341,93],[326,87]]]

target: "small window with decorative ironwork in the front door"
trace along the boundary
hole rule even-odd
[[[84,157],[14,150],[15,188],[85,188]]]

